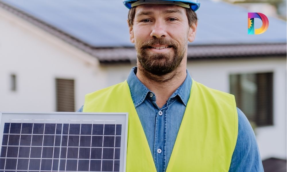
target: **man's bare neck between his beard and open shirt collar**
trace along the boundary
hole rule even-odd
[[[141,66],[137,67],[137,78],[156,95],[156,104],[161,108],[174,91],[184,82],[186,78],[186,63],[171,73],[156,76],[145,71]]]

